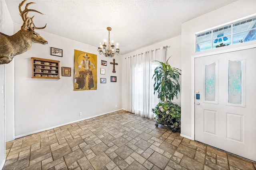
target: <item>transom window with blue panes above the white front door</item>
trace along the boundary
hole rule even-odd
[[[196,34],[196,52],[256,40],[256,16]]]

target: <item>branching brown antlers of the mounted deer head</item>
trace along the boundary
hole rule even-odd
[[[31,4],[35,4],[35,2],[27,3],[26,6],[25,6],[25,9],[22,11],[21,7],[24,5],[25,2],[26,2],[26,0],[22,1],[22,2],[20,3],[20,5],[19,5],[20,16],[21,16],[21,18],[22,18],[22,20],[23,20],[24,22],[26,21],[26,18],[28,18],[28,12],[30,12],[30,11],[32,11],[32,12],[37,12],[37,13],[39,13],[39,14],[44,15],[42,12],[39,12],[39,11],[37,11],[37,10],[28,9],[28,6],[30,6]],[[31,27],[31,26],[30,26],[30,28],[32,28],[32,29],[34,30],[34,29],[44,29],[44,28],[46,27],[46,24],[44,25],[44,27],[36,27],[35,24],[34,24],[34,22],[33,22],[33,18],[34,18],[34,16],[33,16],[32,18],[30,18],[30,19],[31,19],[30,25],[33,24],[34,27]]]

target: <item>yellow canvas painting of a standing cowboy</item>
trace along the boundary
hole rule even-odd
[[[97,55],[74,51],[74,90],[97,90]]]

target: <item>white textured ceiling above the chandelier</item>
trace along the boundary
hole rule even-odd
[[[95,47],[108,41],[119,44],[120,54],[170,39],[181,34],[181,24],[236,0],[27,0],[45,15],[34,23],[43,31]],[[5,0],[12,20],[22,24],[21,0]],[[24,7],[23,7],[24,8]],[[23,9],[22,8],[22,9]],[[43,35],[42,35],[43,36]]]

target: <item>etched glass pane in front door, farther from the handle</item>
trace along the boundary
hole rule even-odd
[[[228,104],[242,104],[241,68],[241,61],[228,61]]]

